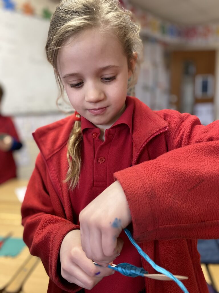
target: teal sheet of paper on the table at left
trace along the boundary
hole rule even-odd
[[[0,256],[17,256],[25,246],[22,238],[8,238],[0,248]]]

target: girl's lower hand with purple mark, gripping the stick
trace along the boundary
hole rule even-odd
[[[93,264],[81,247],[80,230],[66,234],[60,248],[61,275],[69,283],[91,290],[103,277],[113,270]]]

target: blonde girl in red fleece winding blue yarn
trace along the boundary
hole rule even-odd
[[[189,277],[190,293],[208,292],[197,239],[219,238],[219,121],[204,126],[127,97],[140,49],[139,27],[117,0],[63,0],[51,19],[47,59],[77,112],[33,134],[40,153],[23,237],[45,266],[48,292],[181,292],[107,268],[155,272],[127,226],[155,263]]]

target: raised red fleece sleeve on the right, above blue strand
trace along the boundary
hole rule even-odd
[[[133,236],[138,242],[219,238],[219,121],[204,126],[189,114],[165,115],[169,151],[114,174]]]

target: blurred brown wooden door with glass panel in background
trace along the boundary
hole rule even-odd
[[[194,105],[214,102],[214,82],[212,93],[200,97],[195,90],[199,77],[215,76],[215,51],[174,51],[170,66],[170,108],[194,114]],[[187,93],[183,84],[186,85]],[[203,81],[202,89],[207,83]],[[187,101],[185,101],[187,99]],[[186,104],[187,103],[187,104]],[[205,104],[206,105],[206,104]]]

